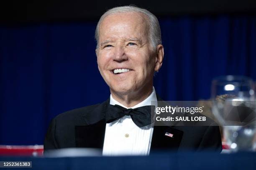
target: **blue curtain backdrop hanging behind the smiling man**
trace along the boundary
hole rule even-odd
[[[164,63],[154,86],[164,100],[210,97],[212,78],[256,80],[256,17],[162,18]],[[0,27],[0,145],[43,144],[61,112],[109,95],[95,55],[96,22]]]

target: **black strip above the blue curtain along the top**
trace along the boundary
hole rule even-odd
[[[0,4],[0,20],[5,23],[97,21],[106,10],[131,4],[146,8],[158,18],[256,11],[255,0],[8,0]]]

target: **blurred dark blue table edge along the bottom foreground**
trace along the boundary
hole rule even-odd
[[[32,161],[32,168],[27,168],[28,170],[256,170],[256,153],[246,152],[158,152],[146,157],[0,157],[0,161]],[[4,168],[0,168],[2,169]]]

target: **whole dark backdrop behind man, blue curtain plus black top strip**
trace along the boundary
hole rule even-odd
[[[0,145],[43,144],[61,112],[103,102],[94,32],[105,10],[144,7],[165,50],[154,87],[164,100],[210,98],[211,80],[256,80],[256,1],[8,1],[0,4]]]

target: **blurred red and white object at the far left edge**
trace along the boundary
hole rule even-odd
[[[0,156],[43,156],[43,145],[0,145]]]

